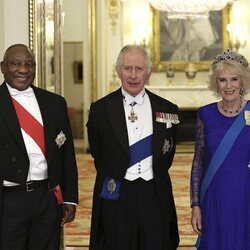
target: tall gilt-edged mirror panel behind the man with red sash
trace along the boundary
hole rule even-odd
[[[29,0],[29,46],[37,73],[35,85],[58,94],[61,87],[61,0]]]

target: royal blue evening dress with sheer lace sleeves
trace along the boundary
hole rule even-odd
[[[244,111],[243,111],[244,112]],[[217,103],[198,110],[191,173],[191,206],[202,213],[199,250],[250,249],[250,126],[245,125],[214,176],[202,204],[199,190],[221,139],[238,115],[226,117]]]

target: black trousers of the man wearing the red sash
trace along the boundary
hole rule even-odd
[[[3,188],[1,250],[58,250],[62,206],[44,184],[33,191]]]

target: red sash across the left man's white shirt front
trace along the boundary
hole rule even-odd
[[[21,128],[36,142],[45,156],[44,129],[19,102],[12,98]]]

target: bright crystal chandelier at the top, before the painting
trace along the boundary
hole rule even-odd
[[[222,10],[237,0],[149,0],[153,8],[167,11],[168,18],[207,18],[210,11]]]

